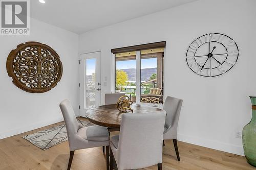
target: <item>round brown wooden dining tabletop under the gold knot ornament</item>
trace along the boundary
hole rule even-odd
[[[122,114],[125,113],[149,113],[149,112],[159,112],[162,109],[154,106],[148,105],[131,105],[133,112],[131,110],[127,110],[127,112],[121,112],[117,109],[116,105],[102,105],[99,107],[94,107],[89,109],[86,112],[86,116],[90,120],[90,122],[99,125],[111,128],[120,128]]]

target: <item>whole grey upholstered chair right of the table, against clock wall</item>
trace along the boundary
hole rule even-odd
[[[163,145],[165,139],[173,139],[174,148],[178,161],[180,161],[180,155],[177,144],[177,128],[180,117],[180,110],[182,106],[182,100],[167,96],[165,99],[163,110],[166,111],[166,119],[163,133]]]

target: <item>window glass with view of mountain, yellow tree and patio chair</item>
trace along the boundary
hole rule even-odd
[[[136,60],[136,52],[116,54],[116,92],[130,95],[133,102],[162,103],[163,48],[140,51],[140,68],[136,68]],[[136,69],[140,69],[140,80],[136,78]]]

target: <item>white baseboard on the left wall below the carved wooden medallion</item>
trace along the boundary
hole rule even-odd
[[[31,130],[34,130],[37,128],[41,128],[44,126],[52,125],[52,124],[55,124],[55,123],[58,123],[61,121],[63,121],[62,116],[57,117],[57,118],[51,118],[51,120],[47,120],[44,122],[37,122],[37,123],[31,124],[29,126],[18,127],[18,128],[14,128],[14,129],[5,131],[5,132],[0,132],[0,139],[7,138],[7,137],[10,137],[13,135],[20,134],[20,133],[28,132],[28,131],[31,131]]]

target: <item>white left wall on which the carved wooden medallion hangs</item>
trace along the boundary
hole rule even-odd
[[[0,36],[0,138],[63,120],[59,103],[69,99],[78,115],[78,35],[31,19],[30,36]],[[17,88],[6,71],[6,59],[16,45],[38,41],[59,55],[63,74],[57,86],[45,93]]]

